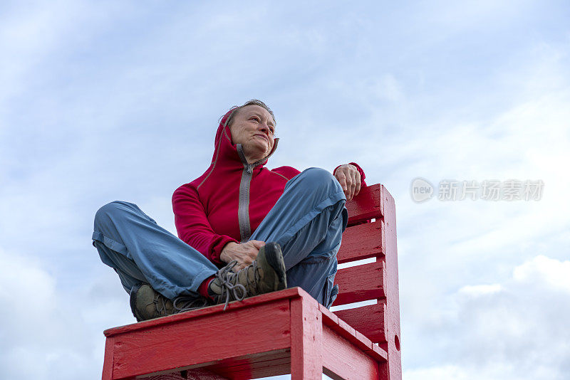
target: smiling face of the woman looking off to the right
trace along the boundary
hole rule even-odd
[[[247,105],[238,110],[229,131],[234,144],[242,144],[249,164],[265,158],[273,149],[275,122],[264,107]]]

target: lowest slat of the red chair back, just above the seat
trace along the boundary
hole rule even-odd
[[[384,302],[348,310],[339,310],[333,313],[372,342],[386,342]]]

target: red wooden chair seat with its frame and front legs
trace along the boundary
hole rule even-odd
[[[231,302],[225,311],[215,305],[115,327],[105,336],[103,379],[181,372],[193,379],[193,371],[202,379],[291,372],[293,379],[378,379],[388,358],[300,287]]]

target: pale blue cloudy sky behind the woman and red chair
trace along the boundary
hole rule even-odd
[[[567,379],[569,20],[566,1],[1,2],[0,379],[100,379],[103,329],[135,320],[95,211],[130,201],[175,233],[172,191],[251,98],[276,115],[269,167],[358,162],[394,196],[404,379]],[[509,180],[540,199],[439,199]]]

